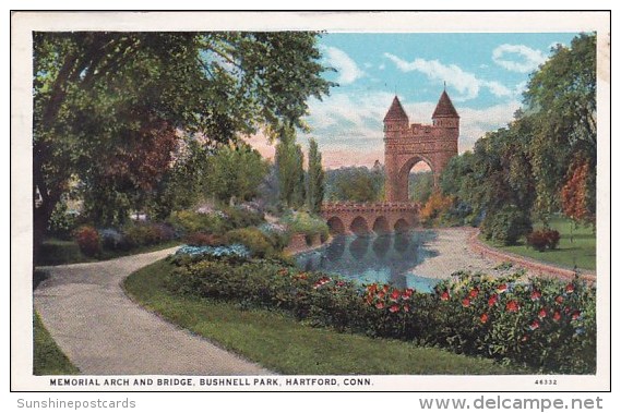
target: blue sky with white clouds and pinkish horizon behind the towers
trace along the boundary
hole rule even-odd
[[[382,119],[395,90],[411,123],[431,123],[446,82],[463,153],[512,120],[529,74],[576,34],[324,34],[323,63],[336,69],[325,77],[339,86],[323,101],[310,100],[311,133],[298,141],[307,146],[313,136],[327,168],[383,163]]]

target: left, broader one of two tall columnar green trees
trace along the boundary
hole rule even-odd
[[[306,199],[304,156],[301,146],[296,143],[296,131],[292,125],[280,129],[275,162],[280,202],[291,208],[302,206]]]

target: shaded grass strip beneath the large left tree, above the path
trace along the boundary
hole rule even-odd
[[[166,250],[176,245],[180,245],[179,241],[169,241],[157,245],[141,246],[130,251],[107,251],[105,250],[97,258],[88,257],[80,251],[75,241],[65,241],[58,239],[48,239],[44,241],[40,257],[36,265],[62,265],[76,263],[94,263],[98,260],[107,260],[127,255],[135,255],[150,253],[158,250]]]

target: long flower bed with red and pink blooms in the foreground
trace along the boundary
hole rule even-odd
[[[595,288],[578,280],[521,282],[521,275],[493,279],[464,272],[421,293],[359,286],[240,255],[176,264],[169,288],[178,293],[285,311],[313,326],[411,340],[541,372],[595,372]]]

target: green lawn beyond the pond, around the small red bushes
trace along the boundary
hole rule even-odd
[[[541,226],[534,226],[535,229]],[[595,241],[596,234],[592,227],[580,226],[573,228],[573,223],[566,218],[553,218],[550,227],[561,233],[561,240],[557,250],[538,252],[526,245],[525,240],[521,240],[518,245],[503,246],[486,241],[482,236],[481,241],[491,246],[506,251],[509,253],[523,255],[540,262],[558,265],[569,269],[574,266],[578,269],[595,270]]]

